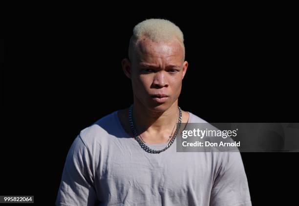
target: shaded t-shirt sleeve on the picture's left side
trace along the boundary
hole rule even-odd
[[[92,159],[80,135],[68,151],[56,199],[57,206],[94,206]]]

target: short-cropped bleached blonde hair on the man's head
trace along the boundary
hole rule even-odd
[[[185,59],[183,32],[171,21],[165,19],[148,19],[135,25],[129,43],[129,59],[132,60],[132,53],[135,50],[135,46],[143,38],[149,38],[153,42],[169,42],[171,39],[177,38],[183,47],[183,59]]]

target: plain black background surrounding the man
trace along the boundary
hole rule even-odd
[[[171,20],[184,32],[189,68],[179,98],[183,110],[209,122],[298,122],[292,12],[136,14],[91,7],[46,14],[43,7],[8,18],[1,195],[34,195],[37,204],[54,204],[74,138],[132,103],[121,60],[133,26],[148,18]],[[241,155],[254,206],[297,203],[298,153]]]

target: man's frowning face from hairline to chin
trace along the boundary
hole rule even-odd
[[[131,81],[137,101],[154,111],[166,111],[177,101],[188,63],[173,38],[168,43],[142,39],[131,60]]]

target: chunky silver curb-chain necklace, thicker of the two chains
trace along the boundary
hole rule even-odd
[[[131,131],[133,133],[133,136],[135,138],[135,140],[139,143],[139,145],[141,146],[142,149],[144,149],[146,152],[148,153],[152,153],[152,154],[159,154],[161,152],[164,152],[165,150],[167,150],[168,148],[170,148],[171,144],[174,142],[178,132],[180,131],[180,127],[181,127],[181,122],[182,122],[182,110],[180,107],[178,107],[179,109],[179,117],[178,117],[178,123],[177,123],[177,127],[176,130],[170,140],[170,142],[166,145],[166,147],[164,149],[161,150],[153,150],[150,149],[148,145],[146,145],[144,142],[142,142],[142,140],[140,139],[140,137],[137,134],[137,131],[134,127],[134,123],[133,123],[133,118],[132,118],[132,110],[133,110],[133,105],[130,106],[129,108],[129,114],[128,114],[128,119],[129,119],[129,124],[131,127]]]

